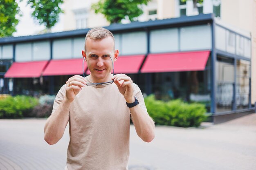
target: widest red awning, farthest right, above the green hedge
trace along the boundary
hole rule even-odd
[[[209,54],[210,51],[149,54],[141,73],[202,71]]]

